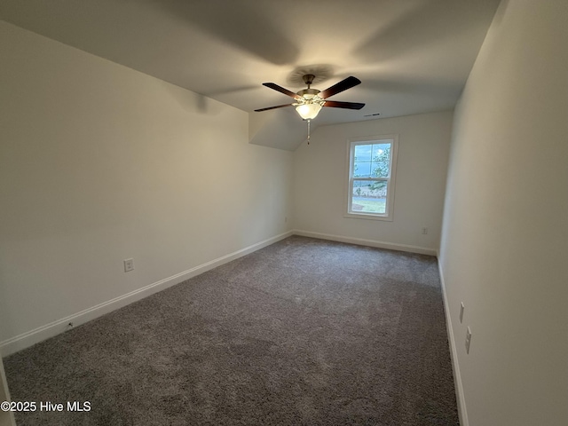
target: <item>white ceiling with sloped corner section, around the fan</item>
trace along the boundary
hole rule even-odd
[[[330,100],[363,109],[312,126],[452,109],[499,1],[1,0],[0,19],[251,112],[252,143],[293,150],[305,123],[252,112],[292,100],[261,83],[362,81]]]

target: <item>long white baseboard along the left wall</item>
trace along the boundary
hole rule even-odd
[[[176,275],[172,275],[171,277],[159,280],[143,288],[138,288],[125,295],[114,297],[114,299],[112,300],[108,300],[102,304],[97,304],[96,306],[92,306],[91,308],[85,309],[84,311],[77,312],[62,319],[58,319],[42,327],[37,327],[36,329],[28,331],[27,333],[16,335],[11,339],[0,342],[0,354],[2,354],[3,357],[6,357],[14,352],[26,349],[33,344],[42,342],[45,339],[63,333],[69,328],[69,323],[73,323],[73,327],[80,326],[81,324],[84,324],[91,319],[99,318],[100,316],[108,312],[113,312],[119,308],[122,308],[122,306],[126,306],[127,304],[136,302],[140,299],[143,299],[144,297],[153,295],[158,291],[162,291],[166,288],[179,284],[180,282],[193,278],[194,276],[199,275],[203,272],[207,272],[213,268],[216,268],[217,266],[226,264],[234,259],[248,255],[249,253],[259,250],[260,248],[270,246],[271,244],[283,240],[291,236],[292,234],[293,233],[291,231],[289,231],[288,233],[280,233],[280,235],[276,235],[267,240],[257,242],[256,244],[253,244],[246,248],[241,248],[240,250],[237,250],[233,253],[218,257],[217,259],[211,260],[210,262],[207,262],[205,264],[200,264],[191,269],[188,269],[187,271],[179,272]]]

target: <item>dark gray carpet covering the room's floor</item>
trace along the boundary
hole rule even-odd
[[[435,257],[304,237],[4,359],[24,425],[457,425]]]

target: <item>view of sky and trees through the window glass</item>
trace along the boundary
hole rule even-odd
[[[356,145],[352,154],[351,211],[385,214],[390,143]]]

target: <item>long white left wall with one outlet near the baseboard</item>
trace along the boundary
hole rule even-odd
[[[0,343],[287,232],[247,113],[2,21],[0,58]]]

